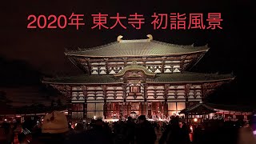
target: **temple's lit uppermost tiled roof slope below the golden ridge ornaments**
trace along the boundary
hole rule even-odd
[[[119,40],[90,49],[67,51],[66,55],[86,57],[129,57],[206,52],[207,46],[180,46],[151,39]]]

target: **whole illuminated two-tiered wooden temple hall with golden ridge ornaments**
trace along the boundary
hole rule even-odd
[[[127,118],[145,114],[166,118],[204,98],[231,74],[189,72],[208,46],[178,46],[146,39],[123,40],[90,49],[66,51],[85,74],[48,78],[69,100],[70,118]]]

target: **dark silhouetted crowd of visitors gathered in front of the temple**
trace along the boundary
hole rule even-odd
[[[181,124],[182,123],[182,124]],[[46,115],[41,123],[26,120],[22,124],[22,133],[18,134],[21,144],[44,143],[90,143],[90,144],[205,144],[236,143],[238,129],[242,122],[224,122],[210,120],[194,122],[188,125],[172,117],[170,122],[149,122],[145,115],[138,119],[128,117],[126,121],[103,122],[92,119],[90,123],[77,122],[74,127],[66,119],[66,115],[54,111]],[[0,143],[14,142],[14,130],[17,125],[4,122],[1,129]],[[157,137],[157,134],[158,135]],[[4,136],[6,138],[3,138]],[[192,137],[191,137],[192,136]],[[2,141],[1,141],[2,138]]]

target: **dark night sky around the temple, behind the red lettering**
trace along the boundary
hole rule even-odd
[[[40,86],[43,76],[81,74],[64,54],[64,48],[77,50],[101,46],[115,42],[118,35],[122,39],[153,38],[162,42],[180,45],[202,46],[209,44],[210,50],[198,62],[193,71],[203,73],[234,73],[236,80],[222,86],[210,96],[210,102],[227,104],[256,104],[253,89],[248,80],[252,80],[254,69],[254,5],[249,0],[238,1],[26,1],[9,2],[1,6],[1,48],[0,48],[0,90],[12,86]],[[67,18],[70,14],[85,14],[85,26],[67,26],[65,29],[27,29],[30,14],[60,15]],[[154,30],[150,22],[152,14],[162,13],[203,13],[222,14],[222,30]],[[127,24],[127,30],[117,26],[112,30],[91,30],[93,19],[90,14],[120,13],[144,14],[145,24],[141,30],[135,30]],[[112,26],[110,22],[108,26]],[[38,92],[39,93],[39,92]],[[40,92],[42,93],[42,91]]]

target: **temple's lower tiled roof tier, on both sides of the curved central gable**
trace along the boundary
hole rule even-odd
[[[200,74],[186,72],[182,74],[156,74],[156,78],[148,82],[157,83],[172,83],[172,82],[206,82],[206,81],[223,81],[231,80],[234,77],[231,74]],[[95,83],[116,83],[122,82],[118,78],[114,78],[114,75],[86,75],[66,78],[46,78],[44,83],[55,84],[95,84]]]

